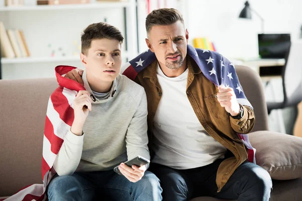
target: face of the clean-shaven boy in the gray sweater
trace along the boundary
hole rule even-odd
[[[87,53],[81,53],[81,61],[90,77],[111,82],[120,72],[121,43],[105,38],[92,40]]]

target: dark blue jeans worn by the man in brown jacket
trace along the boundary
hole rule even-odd
[[[218,159],[212,164],[186,170],[151,163],[149,171],[154,172],[160,179],[165,201],[189,200],[199,196],[238,201],[269,200],[271,177],[265,169],[250,162],[242,163],[221,191],[217,192],[216,173],[222,160]]]

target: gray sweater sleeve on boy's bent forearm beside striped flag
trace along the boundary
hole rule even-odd
[[[53,163],[59,176],[70,175],[77,169],[82,157],[83,143],[84,134],[78,136],[69,130]]]

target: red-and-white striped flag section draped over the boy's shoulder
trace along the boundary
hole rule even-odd
[[[85,90],[80,83],[61,76],[74,68],[71,66],[57,66],[55,68],[60,86],[50,95],[48,100],[41,166],[43,184],[29,185],[4,200],[40,201],[46,199],[46,187],[55,174],[52,165],[74,119],[73,100],[79,90]],[[0,201],[2,200],[0,199]]]

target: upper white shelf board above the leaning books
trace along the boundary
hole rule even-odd
[[[102,2],[91,4],[69,4],[69,5],[39,5],[39,6],[11,6],[0,7],[0,12],[5,11],[50,11],[50,10],[82,10],[82,9],[108,9],[125,8],[132,4],[128,2]]]

